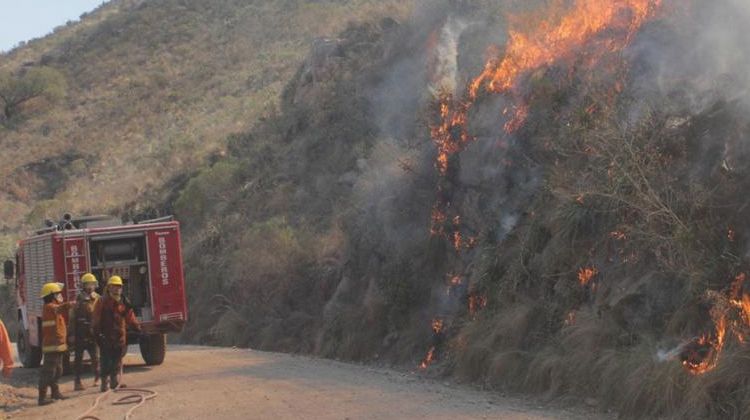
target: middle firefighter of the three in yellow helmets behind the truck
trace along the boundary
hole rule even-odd
[[[94,385],[99,382],[99,348],[94,339],[94,329],[91,325],[94,306],[99,300],[96,287],[99,282],[91,273],[81,276],[83,290],[76,296],[75,308],[73,308],[73,342],[75,345],[74,369],[76,374],[75,390],[83,391],[86,387],[81,382],[81,370],[83,370],[83,353],[87,352],[91,358],[91,366],[94,368]]]

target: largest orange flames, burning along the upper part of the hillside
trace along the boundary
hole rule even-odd
[[[439,123],[431,129],[437,146],[435,167],[450,177],[451,158],[468,147],[474,138],[469,113],[481,92],[509,94],[514,105],[506,108],[507,135],[516,132],[530,114],[518,86],[531,70],[584,54],[593,67],[607,53],[626,47],[643,24],[653,17],[663,0],[576,0],[572,6],[554,0],[551,7],[531,14],[509,17],[508,42],[503,50],[489,48],[490,58],[484,71],[467,87],[463,99],[452,91],[434,90]],[[501,52],[502,51],[502,52]],[[500,58],[502,56],[502,58]],[[613,69],[615,71],[615,69]],[[442,232],[450,200],[438,203],[433,212],[433,233]],[[437,220],[443,217],[443,220]],[[437,226],[437,228],[436,228]]]

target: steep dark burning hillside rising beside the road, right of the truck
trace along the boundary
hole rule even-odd
[[[746,418],[750,10],[677,3],[431,3],[314,44],[173,203],[183,338]]]

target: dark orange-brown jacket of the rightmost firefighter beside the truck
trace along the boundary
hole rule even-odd
[[[127,300],[123,297],[118,302],[109,294],[96,302],[92,323],[102,351],[124,349],[128,325],[141,329]]]

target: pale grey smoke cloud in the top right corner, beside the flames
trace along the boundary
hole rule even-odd
[[[698,114],[717,101],[748,103],[750,2],[679,0],[644,28],[632,48],[639,99],[673,98]]]

